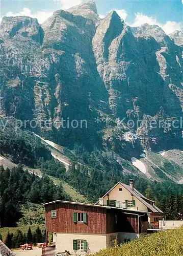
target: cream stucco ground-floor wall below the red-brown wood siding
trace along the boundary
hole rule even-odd
[[[72,255],[76,255],[75,252],[77,252],[77,250],[73,250],[73,240],[79,239],[87,241],[87,253],[97,252],[100,249],[105,249],[107,247],[106,234],[54,233],[54,242],[56,242],[56,253],[68,250],[72,253]],[[86,252],[81,252],[81,255],[85,254]]]

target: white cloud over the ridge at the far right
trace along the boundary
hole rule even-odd
[[[181,30],[181,26],[182,26],[180,22],[178,23],[170,20],[168,20],[165,24],[162,24],[158,22],[156,18],[144,15],[143,13],[139,13],[139,12],[135,14],[134,23],[129,24],[129,26],[140,27],[144,23],[147,23],[149,25],[158,25],[165,31],[166,34],[170,34],[175,30]]]

